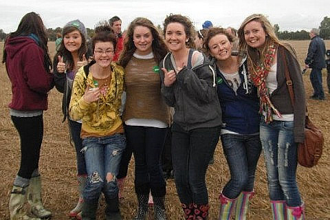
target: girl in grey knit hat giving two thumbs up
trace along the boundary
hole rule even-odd
[[[77,179],[79,199],[76,207],[69,212],[69,217],[80,217],[83,207],[83,190],[85,189],[87,171],[85,157],[81,152],[83,140],[80,138],[81,121],[74,121],[69,116],[69,103],[72,94],[72,84],[78,69],[87,65],[87,32],[85,25],[79,20],[69,21],[63,28],[63,40],[54,56],[54,81],[58,91],[63,93],[63,122],[68,119],[69,132],[76,149]]]

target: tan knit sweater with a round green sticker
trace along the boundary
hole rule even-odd
[[[123,120],[143,118],[170,123],[169,108],[160,94],[160,76],[154,71],[158,64],[153,58],[132,56],[125,68],[126,107]]]

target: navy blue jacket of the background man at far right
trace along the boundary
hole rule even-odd
[[[325,68],[325,51],[325,41],[318,35],[314,36],[309,43],[305,64],[309,65],[310,68]]]

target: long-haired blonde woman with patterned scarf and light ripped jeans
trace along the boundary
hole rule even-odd
[[[305,219],[296,182],[298,143],[304,141],[305,87],[296,52],[279,41],[263,14],[252,14],[239,28],[239,48],[248,54],[248,71],[258,88],[260,139],[265,155],[273,218]],[[289,95],[285,72],[294,90]]]

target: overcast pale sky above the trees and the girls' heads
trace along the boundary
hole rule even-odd
[[[330,17],[330,0],[1,0],[0,29],[13,32],[24,14],[41,15],[46,28],[56,28],[79,19],[86,28],[117,15],[126,28],[135,17],[146,17],[155,25],[166,15],[190,17],[197,29],[209,20],[216,26],[239,28],[245,17],[265,14],[280,30],[296,31],[318,28],[324,17]]]

